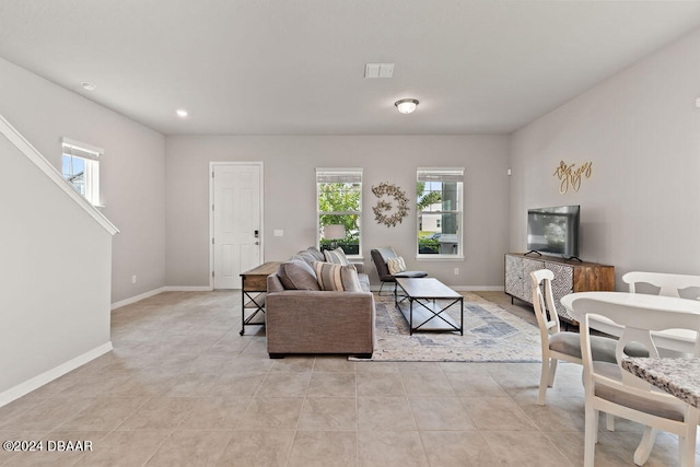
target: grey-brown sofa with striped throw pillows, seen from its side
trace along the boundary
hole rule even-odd
[[[312,267],[324,261],[314,247],[300,252],[267,278],[266,335],[270,358],[343,353],[370,358],[375,308],[370,279],[355,264],[362,292],[320,290]]]

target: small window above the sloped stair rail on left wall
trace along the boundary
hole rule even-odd
[[[98,157],[104,151],[68,138],[63,138],[61,145],[63,178],[93,206],[100,206]]]

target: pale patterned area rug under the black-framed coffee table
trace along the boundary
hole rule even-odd
[[[393,362],[541,362],[539,329],[470,292],[464,295],[464,336],[459,332],[409,335],[393,296],[374,295],[376,349],[370,361]],[[450,313],[459,323],[458,310]],[[368,359],[350,358],[354,361]]]

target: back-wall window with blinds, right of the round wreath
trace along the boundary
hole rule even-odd
[[[464,168],[418,168],[418,257],[462,257],[463,183]]]

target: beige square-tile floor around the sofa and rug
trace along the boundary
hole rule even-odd
[[[481,295],[534,322],[503,293]],[[0,452],[0,464],[583,464],[578,365],[560,364],[539,407],[539,364],[270,360],[261,329],[240,336],[240,301],[168,292],[115,311],[113,352],[0,408],[2,440],[82,440],[93,451]],[[640,436],[620,420],[602,430],[596,465],[633,465]],[[661,434],[646,465],[677,465],[675,437]]]

